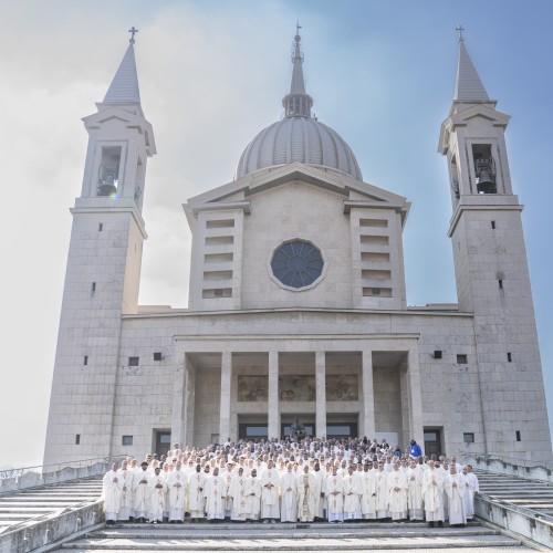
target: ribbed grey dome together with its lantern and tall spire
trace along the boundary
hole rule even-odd
[[[363,180],[357,160],[346,142],[311,113],[313,98],[305,92],[300,40],[296,34],[292,54],[292,84],[290,93],[282,100],[285,116],[261,131],[247,146],[238,163],[236,178],[267,167],[301,161],[336,169]]]

